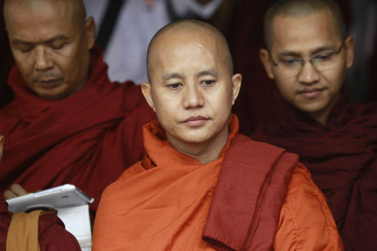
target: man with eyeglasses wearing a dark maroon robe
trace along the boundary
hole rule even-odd
[[[267,11],[260,57],[276,82],[279,120],[251,137],[300,156],[346,250],[376,250],[377,105],[348,97],[353,39],[344,27],[333,1],[280,1]]]

